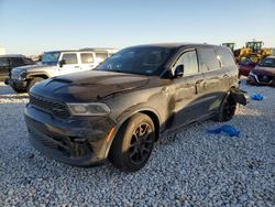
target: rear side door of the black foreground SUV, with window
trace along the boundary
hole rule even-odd
[[[229,89],[227,69],[222,68],[220,57],[215,47],[202,47],[198,50],[201,70],[204,73],[204,90],[208,97],[205,110],[212,112],[219,109],[224,92]]]

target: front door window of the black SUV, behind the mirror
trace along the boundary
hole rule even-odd
[[[199,73],[198,67],[198,58],[196,51],[189,51],[184,53],[178,59],[175,65],[175,68],[178,65],[184,65],[184,75],[191,75]]]

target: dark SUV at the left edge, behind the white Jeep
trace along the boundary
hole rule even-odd
[[[9,78],[13,67],[34,64],[35,62],[24,55],[0,55],[0,80]]]

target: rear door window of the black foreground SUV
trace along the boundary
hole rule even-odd
[[[212,48],[199,48],[199,56],[204,72],[220,69],[220,62]]]

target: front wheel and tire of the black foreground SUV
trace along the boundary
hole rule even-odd
[[[150,159],[155,137],[152,119],[144,113],[134,115],[118,131],[110,149],[110,162],[124,172],[141,170]]]

